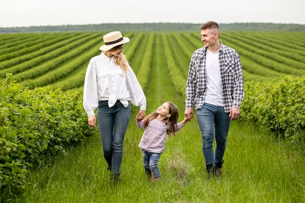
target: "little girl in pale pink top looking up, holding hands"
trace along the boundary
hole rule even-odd
[[[152,173],[155,181],[161,177],[158,161],[165,148],[166,136],[174,136],[175,131],[188,122],[184,118],[177,124],[178,118],[178,108],[172,102],[165,102],[144,119],[142,116],[136,117],[137,126],[145,128],[139,147],[142,148],[143,166],[149,181],[152,180]]]

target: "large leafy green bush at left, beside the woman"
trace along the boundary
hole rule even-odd
[[[0,86],[0,199],[22,190],[29,169],[94,133],[79,92],[29,90],[7,74]]]

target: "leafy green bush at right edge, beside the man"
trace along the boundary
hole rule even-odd
[[[242,118],[294,141],[305,140],[305,76],[245,85]]]

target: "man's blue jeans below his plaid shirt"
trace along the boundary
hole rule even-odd
[[[201,109],[196,110],[196,116],[201,130],[202,152],[206,166],[215,166],[215,163],[223,161],[231,117],[225,112],[224,107],[206,103]],[[215,153],[213,152],[214,137]]]

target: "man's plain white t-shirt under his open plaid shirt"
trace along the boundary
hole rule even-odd
[[[222,102],[222,85],[221,75],[219,68],[219,53],[211,53],[207,49],[206,57],[206,79],[207,79],[207,92],[205,95],[205,103],[215,106],[223,107]]]

